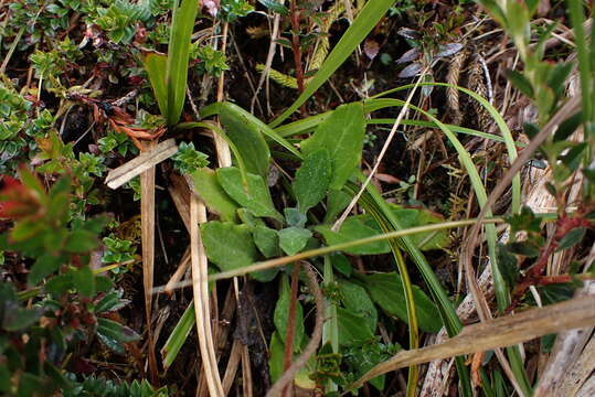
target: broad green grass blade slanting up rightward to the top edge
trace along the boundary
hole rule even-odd
[[[296,99],[291,106],[277,117],[270,127],[277,127],[296,111],[301,105],[308,100],[308,98],[316,93],[322,84],[325,84],[329,77],[341,66],[341,64],[348,58],[348,56],[355,50],[355,47],[365,39],[368,33],[376,25],[386,11],[393,6],[394,0],[370,0],[359,12],[358,17],[353,20],[353,23],[346,33],[339,40],[339,43],[332,49],[331,53],[320,66],[320,69],[316,73],[314,78],[308,83],[304,93]]]

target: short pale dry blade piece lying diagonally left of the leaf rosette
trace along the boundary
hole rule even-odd
[[[127,163],[109,171],[105,179],[105,183],[110,189],[118,189],[132,178],[140,175],[142,172],[153,168],[161,161],[169,159],[178,151],[176,140],[168,139],[151,149],[140,153],[135,159]]]

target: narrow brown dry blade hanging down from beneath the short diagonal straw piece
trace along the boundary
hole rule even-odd
[[[152,337],[152,285],[155,267],[155,167],[140,174],[140,222],[142,239],[142,286],[145,289],[145,315],[149,340],[149,372],[151,380],[157,380],[157,358]]]

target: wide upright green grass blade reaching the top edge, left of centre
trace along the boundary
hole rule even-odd
[[[190,37],[194,29],[198,10],[198,0],[181,0],[181,4],[173,11],[166,74],[168,87],[168,112],[166,114],[166,119],[168,126],[173,126],[178,122],[184,107]]]

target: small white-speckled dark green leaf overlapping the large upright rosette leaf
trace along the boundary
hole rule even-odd
[[[331,167],[329,151],[325,148],[304,158],[293,184],[299,211],[306,213],[325,197],[332,176]]]

